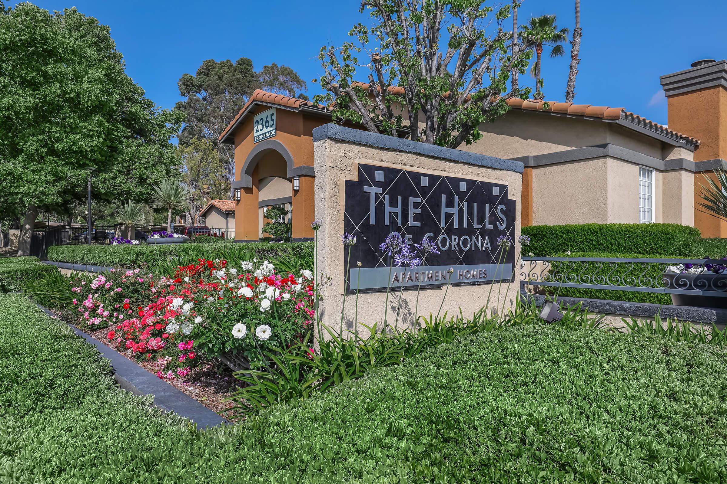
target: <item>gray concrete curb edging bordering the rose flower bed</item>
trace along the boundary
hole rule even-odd
[[[47,310],[40,304],[41,308],[48,316],[55,317],[51,311]],[[101,343],[91,335],[84,333],[81,329],[68,324],[76,335],[84,338],[87,343],[94,346],[103,358],[111,362],[113,368],[113,377],[119,382],[122,390],[127,390],[134,395],[153,395],[154,405],[164,411],[174,412],[180,417],[185,417],[195,422],[198,430],[206,427],[215,427],[225,424],[228,421],[214,411],[208,409],[193,398],[188,397],[181,390],[172,387],[169,383],[161,380],[155,374],[148,372],[133,361],[122,356],[113,348]]]

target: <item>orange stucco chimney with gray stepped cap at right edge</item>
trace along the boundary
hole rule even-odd
[[[691,68],[662,75],[669,128],[699,139],[694,161],[694,226],[702,237],[727,237],[727,222],[702,212],[701,187],[713,168],[727,167],[727,60],[703,59]],[[703,163],[699,163],[703,162]]]

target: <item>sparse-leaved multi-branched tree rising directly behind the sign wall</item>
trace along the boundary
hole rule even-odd
[[[512,6],[490,3],[364,0],[361,12],[371,12],[373,25],[359,23],[349,32],[354,41],[321,49],[320,81],[329,92],[316,101],[369,131],[451,148],[476,141],[480,123],[530,92],[507,89],[510,72],[524,73],[532,54],[512,54],[513,33],[502,25]]]

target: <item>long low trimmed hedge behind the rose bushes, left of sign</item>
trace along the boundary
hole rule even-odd
[[[140,244],[140,245],[57,245],[49,247],[48,260],[97,266],[140,268],[174,263],[195,263],[198,258],[230,262],[270,259],[281,254],[302,256],[313,253],[313,242]]]

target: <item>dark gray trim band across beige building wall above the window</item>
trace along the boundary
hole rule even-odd
[[[616,160],[623,160],[659,171],[687,170],[700,171],[700,168],[692,160],[686,158],[673,158],[671,160],[659,160],[652,156],[644,155],[632,149],[620,147],[617,144],[597,144],[590,147],[566,149],[564,151],[545,153],[543,155],[528,155],[515,158],[522,161],[525,166],[553,165],[555,163],[566,163],[569,161],[589,160],[593,158],[610,157]],[[713,161],[713,160],[710,160]],[[699,162],[709,163],[709,162]],[[711,168],[708,168],[711,169]]]

